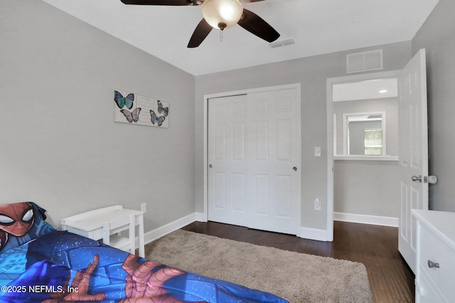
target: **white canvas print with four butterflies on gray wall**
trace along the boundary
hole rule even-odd
[[[114,90],[114,121],[169,127],[169,104],[120,89]]]

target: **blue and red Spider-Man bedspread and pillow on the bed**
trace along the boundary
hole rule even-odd
[[[287,302],[57,231],[44,211],[0,205],[0,302]]]

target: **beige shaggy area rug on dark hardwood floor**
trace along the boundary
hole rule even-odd
[[[365,265],[177,230],[146,245],[146,258],[277,294],[291,303],[368,303]]]

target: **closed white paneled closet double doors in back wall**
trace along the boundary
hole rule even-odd
[[[296,89],[208,101],[208,219],[297,234],[300,106]]]

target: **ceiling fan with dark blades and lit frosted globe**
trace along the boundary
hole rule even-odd
[[[204,18],[191,35],[188,48],[197,48],[213,28],[223,31],[235,24],[268,42],[277,40],[279,33],[264,19],[252,11],[244,9],[242,4],[263,0],[121,0],[124,4],[136,5],[202,5]]]

